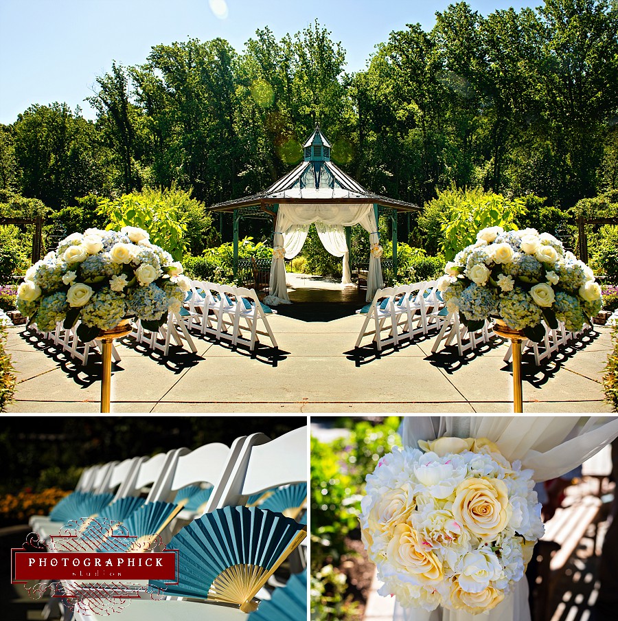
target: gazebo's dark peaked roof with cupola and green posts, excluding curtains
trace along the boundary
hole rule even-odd
[[[393,240],[393,273],[397,273],[398,214],[419,212],[422,207],[389,199],[365,190],[360,183],[330,161],[330,142],[319,127],[304,144],[304,161],[299,163],[263,192],[240,199],[211,205],[209,211],[232,214],[234,274],[238,269],[238,232],[243,218],[268,218],[276,230],[277,210],[285,203],[332,205],[365,203],[374,206],[376,222],[384,214],[391,219]],[[345,227],[347,247],[350,249],[352,227]]]

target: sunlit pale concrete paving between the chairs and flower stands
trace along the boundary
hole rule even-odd
[[[512,376],[505,345],[485,346],[460,359],[453,350],[431,354],[435,335],[387,350],[354,354],[363,323],[358,315],[306,322],[271,317],[279,354],[247,350],[196,337],[197,354],[172,348],[163,359],[134,341],[118,345],[115,412],[501,412],[510,411]],[[9,412],[97,412],[100,361],[82,367],[49,342],[8,330],[8,352],[18,376]],[[610,330],[597,328],[552,361],[536,368],[525,358],[524,410],[608,412],[602,374]]]

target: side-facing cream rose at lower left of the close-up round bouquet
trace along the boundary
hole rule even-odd
[[[406,523],[398,524],[393,530],[393,538],[387,548],[389,563],[402,572],[417,574],[428,582],[444,580],[442,563],[431,550],[424,550],[418,533]]]

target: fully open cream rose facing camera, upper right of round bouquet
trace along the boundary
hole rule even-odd
[[[466,479],[455,490],[453,515],[481,541],[494,541],[511,517],[507,487],[500,479]]]

